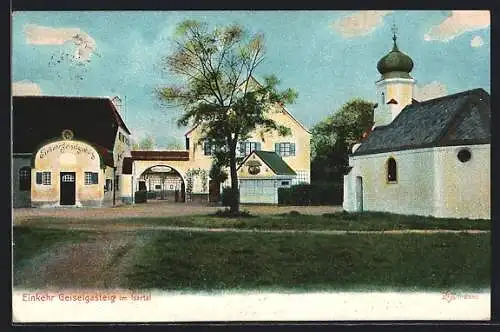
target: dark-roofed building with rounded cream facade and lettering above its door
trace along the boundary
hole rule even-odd
[[[13,97],[14,207],[103,206],[121,184],[130,132],[108,98]]]

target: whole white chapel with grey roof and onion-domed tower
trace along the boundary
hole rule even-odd
[[[413,62],[393,39],[377,65],[374,128],[349,157],[344,210],[490,219],[490,95],[416,101]]]

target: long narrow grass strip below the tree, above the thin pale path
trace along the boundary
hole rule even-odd
[[[32,217],[29,224],[66,223],[68,219]],[[213,215],[179,217],[123,217],[119,219],[88,219],[85,224],[127,223],[136,225],[166,225],[179,227],[213,227],[238,229],[295,229],[295,230],[394,230],[394,229],[448,229],[490,230],[489,220],[441,219],[404,216],[389,213],[332,213],[324,215],[260,215],[250,218],[222,218]],[[80,223],[71,220],[71,223]]]

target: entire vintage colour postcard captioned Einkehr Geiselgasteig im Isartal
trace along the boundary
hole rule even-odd
[[[490,12],[12,13],[12,320],[490,319]]]

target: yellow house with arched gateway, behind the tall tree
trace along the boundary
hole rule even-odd
[[[280,104],[274,105],[268,116],[276,123],[290,128],[290,135],[280,136],[277,132],[264,132],[261,128],[256,128],[249,139],[238,142],[238,157],[244,158],[253,151],[271,152],[295,172],[290,185],[310,183],[310,132]],[[132,151],[134,169],[131,175],[135,179],[134,190],[154,191],[157,190],[155,188],[165,188],[160,174],[155,176],[151,172],[153,167],[164,166],[171,171],[169,183],[166,183],[167,189],[161,189],[166,191],[163,196],[175,199],[175,192],[178,192],[178,201],[208,201],[211,190],[218,192],[220,188],[213,187],[209,179],[214,147],[202,137],[202,127],[196,126],[185,134],[184,151]],[[168,177],[163,175],[163,178]],[[228,186],[229,183],[230,179],[224,185]],[[263,199],[260,202],[268,201]]]

